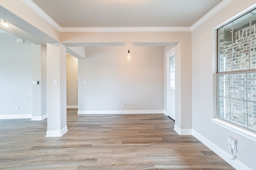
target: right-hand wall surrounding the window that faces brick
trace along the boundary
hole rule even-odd
[[[216,116],[216,34],[215,27],[252,6],[254,1],[233,0],[225,8],[192,31],[192,127],[196,137],[212,145],[212,149],[225,156],[229,153],[227,137],[238,140],[237,159],[226,160],[233,165],[243,164],[256,169],[256,142],[211,122]]]

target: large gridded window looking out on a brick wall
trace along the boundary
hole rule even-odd
[[[217,117],[256,132],[256,10],[218,29]]]

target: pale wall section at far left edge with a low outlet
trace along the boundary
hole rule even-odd
[[[32,115],[31,43],[17,38],[0,33],[0,115],[7,117]]]

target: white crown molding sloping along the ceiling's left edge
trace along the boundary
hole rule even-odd
[[[41,8],[39,8],[32,0],[22,0],[27,6],[29,6],[34,12],[40,15],[44,20],[50,23],[53,27],[55,27],[58,31],[61,30],[60,25],[56,23],[52,18],[50,18]]]

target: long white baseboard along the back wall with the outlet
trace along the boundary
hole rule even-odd
[[[164,110],[78,110],[78,114],[140,114],[164,113]]]

